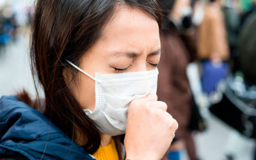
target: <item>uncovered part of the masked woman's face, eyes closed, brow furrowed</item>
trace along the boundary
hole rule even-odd
[[[99,40],[84,53],[80,68],[118,74],[156,69],[160,59],[159,26],[156,19],[138,8],[120,6],[102,29]],[[64,71],[64,76],[67,77]],[[83,109],[95,108],[95,81],[81,72],[68,88]]]

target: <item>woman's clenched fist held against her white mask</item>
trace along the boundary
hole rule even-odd
[[[157,95],[133,100],[125,131],[126,159],[161,159],[175,136],[177,121],[166,112],[167,105]]]

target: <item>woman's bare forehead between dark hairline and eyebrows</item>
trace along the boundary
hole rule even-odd
[[[160,45],[159,26],[152,15],[139,8],[118,6],[100,39],[122,47]]]

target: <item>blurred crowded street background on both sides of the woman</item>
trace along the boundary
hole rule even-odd
[[[36,96],[29,60],[34,3],[0,0],[0,97],[23,88]],[[164,85],[157,93],[180,124],[164,159],[256,160],[256,1],[159,3]],[[163,92],[166,86],[172,89]]]

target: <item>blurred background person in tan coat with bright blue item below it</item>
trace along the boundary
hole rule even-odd
[[[212,95],[221,79],[227,77],[230,52],[221,1],[205,4],[204,19],[198,26],[197,57],[200,60],[202,91]]]

